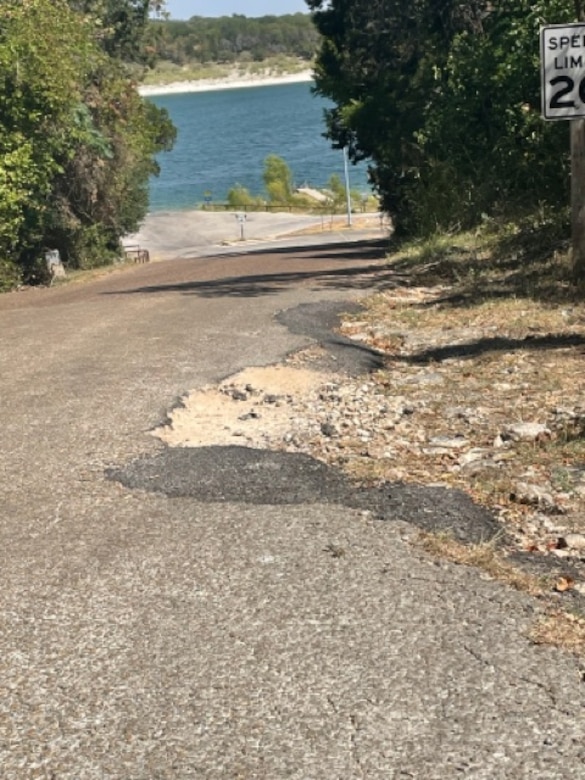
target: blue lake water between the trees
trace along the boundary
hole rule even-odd
[[[286,160],[296,186],[324,187],[333,173],[343,181],[343,153],[322,135],[329,104],[312,94],[311,84],[149,99],[168,110],[178,129],[173,151],[158,158],[161,174],[151,181],[151,211],[192,208],[206,193],[225,201],[235,184],[263,195],[269,154]],[[365,165],[350,165],[349,173],[352,189],[369,191]]]

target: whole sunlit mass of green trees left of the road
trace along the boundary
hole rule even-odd
[[[0,286],[38,279],[47,249],[73,267],[107,262],[144,216],[154,154],[174,139],[131,73],[143,57],[148,5],[4,0]],[[132,41],[116,22],[123,9],[136,14]]]

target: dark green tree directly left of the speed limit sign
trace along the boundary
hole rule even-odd
[[[415,135],[417,225],[469,225],[482,214],[568,203],[567,128],[541,118],[538,31],[546,20],[570,21],[571,6],[503,0],[479,29],[453,40]]]

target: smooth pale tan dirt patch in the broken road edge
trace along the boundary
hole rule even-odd
[[[153,435],[171,447],[266,448],[294,426],[294,409],[328,379],[291,366],[246,368],[183,399]]]

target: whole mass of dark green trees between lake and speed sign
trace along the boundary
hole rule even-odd
[[[568,199],[568,136],[540,116],[539,27],[573,0],[307,0],[327,133],[397,226],[466,226]]]

